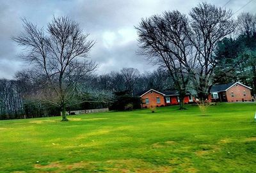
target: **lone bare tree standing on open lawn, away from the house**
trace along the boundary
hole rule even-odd
[[[85,59],[94,42],[67,17],[54,17],[46,30],[26,19],[23,22],[24,32],[12,39],[24,47],[22,58],[45,79],[40,99],[60,107],[62,121],[67,121],[66,107],[77,82],[97,68],[97,64]]]

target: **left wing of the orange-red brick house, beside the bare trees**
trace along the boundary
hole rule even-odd
[[[179,105],[179,94],[177,91],[156,91],[150,89],[147,92],[140,95],[143,101],[142,107],[164,107],[168,105]],[[186,94],[184,103],[193,103],[191,94]]]

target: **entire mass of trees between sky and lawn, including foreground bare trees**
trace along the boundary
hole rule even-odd
[[[46,28],[23,19],[12,40],[22,47],[29,68],[14,80],[0,80],[0,119],[56,116],[74,109],[140,105],[147,89],[179,92],[180,109],[191,93],[202,105],[214,84],[241,81],[256,92],[256,15],[200,3],[188,15],[164,11],[142,19],[138,53],[158,66],[153,72],[123,68],[103,75],[88,55],[95,41],[68,17],[53,18]],[[124,102],[124,100],[127,100]],[[116,106],[117,105],[117,106]]]

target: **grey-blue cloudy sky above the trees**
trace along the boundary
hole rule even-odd
[[[225,6],[234,12],[250,0],[204,1]],[[108,73],[123,67],[140,71],[152,71],[156,66],[148,64],[145,57],[136,55],[137,36],[134,26],[141,18],[162,13],[164,10],[188,11],[202,0],[67,0],[40,1],[0,0],[0,78],[13,79],[15,72],[26,68],[19,59],[20,48],[10,39],[22,31],[20,18],[25,17],[37,26],[45,27],[52,16],[65,15],[79,22],[90,39],[97,41],[90,58],[99,64],[97,73]],[[244,6],[242,11],[254,12],[256,0]]]

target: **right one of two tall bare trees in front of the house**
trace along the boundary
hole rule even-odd
[[[218,64],[214,50],[218,41],[234,31],[236,24],[232,11],[207,3],[198,4],[189,15],[191,33],[187,36],[198,51],[193,85],[196,96],[204,103],[212,86],[212,73]]]

